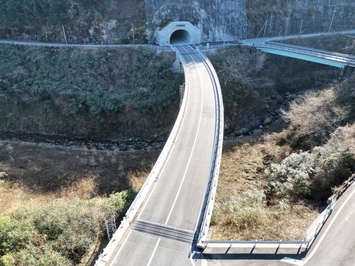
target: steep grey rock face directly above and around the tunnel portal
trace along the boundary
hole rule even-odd
[[[245,0],[145,0],[148,39],[172,21],[189,21],[202,32],[202,41],[234,40],[246,36]]]

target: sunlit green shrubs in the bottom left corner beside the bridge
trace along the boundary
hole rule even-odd
[[[78,264],[105,236],[104,219],[122,215],[133,197],[132,191],[124,191],[106,199],[55,200],[35,209],[19,209],[11,217],[0,216],[0,262]]]

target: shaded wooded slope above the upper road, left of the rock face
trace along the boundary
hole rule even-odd
[[[0,0],[0,38],[121,42],[130,38],[132,24],[135,38],[144,38],[145,21],[140,0]]]

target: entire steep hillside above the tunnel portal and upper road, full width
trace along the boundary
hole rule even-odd
[[[189,21],[202,41],[355,28],[354,0],[0,0],[0,38],[69,43],[155,43]]]

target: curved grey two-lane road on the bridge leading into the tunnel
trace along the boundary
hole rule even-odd
[[[215,163],[220,92],[208,59],[188,45],[176,49],[185,71],[176,136],[135,217],[99,265],[195,265],[190,255]]]

